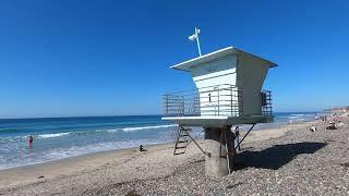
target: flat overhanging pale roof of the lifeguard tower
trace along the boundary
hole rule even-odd
[[[217,50],[217,51],[214,51],[214,52],[210,52],[210,53],[207,53],[207,54],[204,54],[204,56],[201,56],[201,57],[197,57],[197,58],[184,61],[184,62],[181,62],[181,63],[172,65],[170,68],[174,69],[174,70],[182,70],[182,71],[190,72],[190,69],[194,65],[209,63],[209,62],[216,61],[218,59],[225,58],[230,54],[246,56],[248,58],[261,61],[261,63],[266,64],[269,68],[277,66],[277,64],[275,64],[274,62],[270,62],[266,59],[263,59],[261,57],[254,56],[252,53],[245,52],[243,50],[240,50],[238,48],[230,46],[230,47],[227,47],[227,48],[224,48],[224,49],[220,49],[220,50]]]

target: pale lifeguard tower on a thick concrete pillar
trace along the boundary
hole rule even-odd
[[[171,66],[191,73],[196,89],[164,95],[163,120],[177,123],[179,136],[190,136],[191,126],[204,127],[205,148],[195,144],[206,155],[207,175],[230,173],[237,145],[256,123],[274,121],[270,91],[262,90],[267,72],[274,66],[277,65],[234,47]],[[239,144],[234,144],[230,131],[237,124],[252,125]],[[179,143],[178,137],[174,150]]]

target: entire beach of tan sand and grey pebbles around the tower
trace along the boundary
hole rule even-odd
[[[224,177],[204,175],[204,155],[194,144],[179,156],[164,144],[2,170],[0,195],[345,195],[349,120],[341,119],[345,127],[335,131],[316,121],[252,132],[243,164]],[[310,132],[311,124],[318,131]]]

